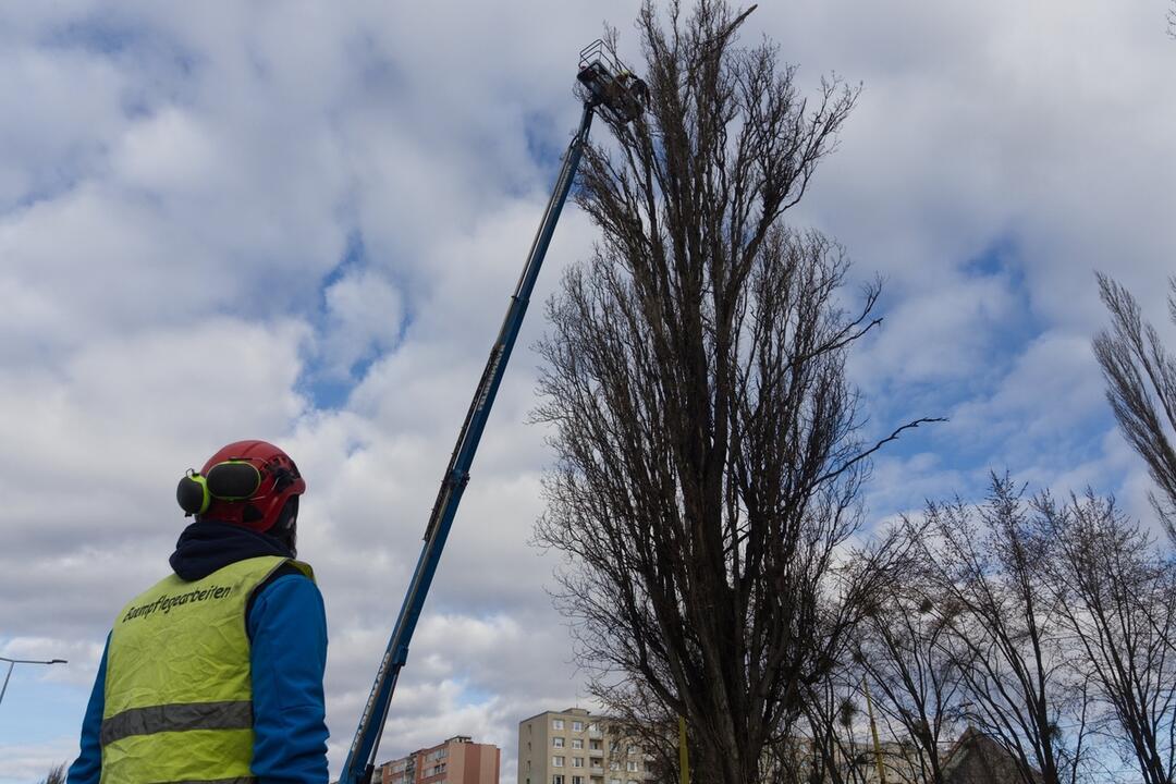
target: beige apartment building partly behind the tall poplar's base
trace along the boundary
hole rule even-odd
[[[519,722],[517,784],[644,784],[649,758],[604,716],[582,708]]]

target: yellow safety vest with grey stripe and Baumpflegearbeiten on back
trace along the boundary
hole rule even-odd
[[[262,556],[203,579],[172,575],[122,608],[106,655],[101,784],[249,782],[249,597],[283,563]]]

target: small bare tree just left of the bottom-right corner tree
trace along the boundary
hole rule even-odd
[[[984,504],[930,504],[918,541],[964,718],[1004,746],[1023,784],[1078,780],[1089,702],[1062,655],[1060,599],[1040,568],[1045,541],[1021,491],[994,476]]]

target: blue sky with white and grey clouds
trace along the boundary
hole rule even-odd
[[[72,759],[118,608],[166,572],[181,473],[263,437],[308,477],[327,602],[332,772],[579,106],[575,56],[635,0],[0,6],[0,784]],[[797,226],[886,279],[854,357],[876,523],[989,469],[1145,516],[1089,342],[1094,272],[1163,322],[1176,261],[1176,40],[1164,0],[763,2],[811,92],[863,93]],[[603,127],[597,130],[603,133]],[[564,214],[536,292],[583,257]],[[532,309],[381,760],[499,744],[581,704],[528,545],[550,454],[526,423]],[[1164,327],[1176,341],[1176,334]]]

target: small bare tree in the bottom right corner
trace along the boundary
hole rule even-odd
[[[1057,607],[1075,641],[1074,665],[1089,672],[1111,725],[1144,784],[1176,780],[1176,564],[1115,507],[1088,492],[1058,507],[1036,502],[1054,543],[1049,569]]]

